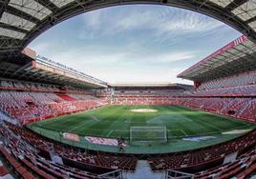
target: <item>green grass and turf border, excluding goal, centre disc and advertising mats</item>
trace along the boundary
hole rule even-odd
[[[157,109],[155,113],[137,113],[131,109]],[[108,138],[124,137],[129,140],[130,127],[165,126],[168,143],[152,145],[129,144],[127,153],[165,153],[198,149],[231,140],[242,134],[222,134],[232,129],[255,129],[256,125],[181,106],[106,106],[100,109],[65,115],[29,124],[35,132],[62,143],[84,149],[119,152],[117,147],[94,145],[84,136]],[[80,136],[79,142],[69,141],[59,135],[68,131]],[[183,137],[214,136],[206,141],[184,141]]]

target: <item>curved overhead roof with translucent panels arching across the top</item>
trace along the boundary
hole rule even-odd
[[[0,55],[23,50],[55,24],[79,13],[128,4],[155,4],[212,16],[256,42],[254,0],[0,0]]]

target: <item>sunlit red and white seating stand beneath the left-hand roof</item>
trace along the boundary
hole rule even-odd
[[[84,94],[0,91],[0,110],[22,125],[98,106],[99,100]]]

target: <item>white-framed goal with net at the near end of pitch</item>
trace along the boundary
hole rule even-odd
[[[130,127],[130,143],[166,143],[166,127]]]

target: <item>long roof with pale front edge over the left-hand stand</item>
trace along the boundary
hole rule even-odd
[[[107,88],[107,83],[46,57],[36,56],[35,51],[27,48],[8,61],[0,61],[0,76],[83,89]]]

